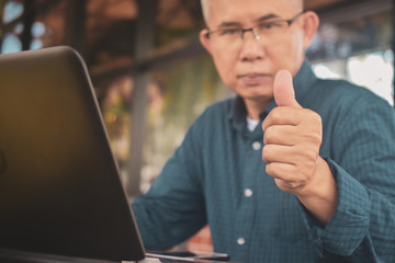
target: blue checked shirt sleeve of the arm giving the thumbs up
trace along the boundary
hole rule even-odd
[[[303,209],[305,222],[323,258],[395,262],[394,110],[361,98],[346,112],[326,158],[337,183],[337,210],[324,228]]]

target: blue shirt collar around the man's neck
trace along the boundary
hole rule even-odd
[[[307,59],[305,59],[293,79],[293,84],[295,89],[295,98],[296,101],[303,106],[304,99],[309,93],[317,78],[312,70],[312,66]],[[260,119],[264,119],[264,117],[276,106],[274,100],[268,105],[268,107],[260,114]],[[234,125],[238,129],[246,129],[246,117],[247,117],[247,108],[246,104],[242,101],[242,98],[236,96],[233,100],[230,111],[229,111],[229,119],[235,121]]]

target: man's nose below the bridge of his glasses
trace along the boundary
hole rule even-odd
[[[251,34],[246,34],[251,32]],[[247,28],[242,32],[242,44],[240,48],[240,60],[253,61],[264,57],[264,48],[259,43],[259,35],[252,28]]]

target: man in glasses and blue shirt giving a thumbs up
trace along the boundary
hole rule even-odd
[[[133,203],[148,249],[211,227],[241,262],[395,262],[395,115],[318,80],[302,0],[202,0],[200,34],[237,98],[210,106]]]

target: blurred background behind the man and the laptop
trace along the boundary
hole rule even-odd
[[[394,105],[395,0],[305,0],[307,57]],[[0,53],[68,45],[91,76],[127,194],[148,190],[193,119],[233,95],[199,43],[200,0],[0,0]],[[1,55],[0,55],[1,56]],[[188,249],[211,251],[205,228]]]

